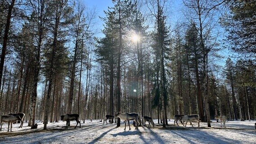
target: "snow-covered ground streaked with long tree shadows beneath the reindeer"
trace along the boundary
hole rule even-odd
[[[211,128],[207,123],[193,123],[194,127],[174,126],[174,120],[168,121],[169,126],[162,128],[155,121],[155,127],[135,127],[131,125],[124,129],[124,123],[116,127],[116,123],[103,124],[99,121],[85,121],[82,128],[74,129],[75,121],[71,122],[69,129],[65,129],[65,122],[49,123],[47,130],[43,124],[37,123],[37,129],[30,129],[24,122],[13,124],[12,132],[7,132],[7,123],[0,131],[0,144],[256,144],[256,121],[229,121],[226,128],[221,128],[220,123],[212,122]],[[132,121],[131,121],[132,122]],[[147,125],[148,126],[148,125]]]

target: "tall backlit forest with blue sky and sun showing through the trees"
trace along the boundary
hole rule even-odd
[[[0,0],[0,115],[256,118],[256,0],[112,2]]]

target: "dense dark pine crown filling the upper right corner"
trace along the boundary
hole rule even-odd
[[[227,6],[229,9],[221,18],[222,26],[229,32],[227,40],[235,52],[253,58],[256,54],[256,1],[229,0]]]

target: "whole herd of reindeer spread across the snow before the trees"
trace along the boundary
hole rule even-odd
[[[9,132],[9,126],[10,131],[12,131],[12,127],[13,127],[13,123],[16,121],[21,121],[21,124],[19,126],[19,128],[22,128],[23,126],[23,118],[24,118],[25,114],[22,112],[18,112],[18,113],[9,113],[8,115],[2,115],[0,118],[0,131],[2,130],[2,126],[4,123],[8,123],[8,131]],[[61,121],[66,121],[66,129],[69,128],[70,125],[70,121],[76,121],[77,125],[75,126],[75,128],[78,126],[78,123],[80,125],[81,128],[81,123],[79,121],[79,114],[66,114],[66,115],[61,115]],[[140,116],[133,112],[133,113],[121,113],[118,112],[115,115],[106,115],[105,119],[103,121],[103,124],[106,121],[107,124],[107,120],[110,119],[111,123],[113,123],[113,119],[119,117],[122,121],[125,122],[125,126],[124,126],[124,130],[126,130],[126,123],[128,122],[128,126],[129,126],[129,130],[131,130],[130,127],[130,120],[134,122],[134,126],[135,126],[135,130],[138,129],[138,125],[145,125],[146,126],[146,122],[148,122],[148,126],[153,125],[153,127],[155,126],[155,123],[153,121],[153,119],[151,117],[147,117],[147,116],[143,116],[142,119],[140,118]],[[224,115],[221,116],[215,116],[215,119],[220,121],[220,126],[222,127],[222,122],[223,122],[223,126],[224,128],[226,127],[226,121],[227,118]],[[175,122],[178,126],[178,121],[181,122],[184,126],[185,122],[185,126],[187,126],[187,122],[190,122],[190,125],[192,125],[192,122],[197,122],[198,123],[198,127],[200,126],[200,119],[199,116],[197,114],[194,115],[174,115],[174,126],[175,126]],[[151,124],[151,125],[150,125]],[[193,125],[192,125],[193,126]],[[256,130],[256,123],[255,123],[255,130]]]

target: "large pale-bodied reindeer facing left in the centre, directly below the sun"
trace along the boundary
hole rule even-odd
[[[138,129],[138,117],[139,115],[135,112],[133,113],[121,113],[121,112],[118,112],[117,114],[114,115],[114,117],[119,117],[121,120],[125,121],[125,126],[124,126],[124,130],[126,129],[126,122],[128,121],[128,125],[129,125],[129,130],[131,130],[131,127],[130,127],[130,120],[133,120],[136,122],[136,128],[135,130]]]

